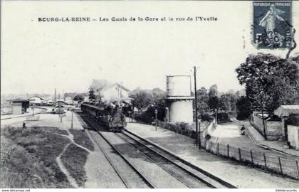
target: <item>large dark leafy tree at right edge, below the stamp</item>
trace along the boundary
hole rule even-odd
[[[246,99],[251,110],[273,114],[280,105],[299,102],[298,63],[271,54],[249,55],[236,73],[246,87]]]

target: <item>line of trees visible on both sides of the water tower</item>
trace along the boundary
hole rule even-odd
[[[197,108],[201,118],[210,119],[214,110],[226,113],[226,119],[228,118],[228,114],[236,114],[237,101],[240,99],[239,92],[234,92],[234,90],[219,92],[217,85],[212,85],[209,87],[209,90],[201,87],[197,90],[196,94]],[[158,110],[158,119],[164,120],[165,107],[167,107],[167,100],[165,100],[166,92],[159,88],[154,88],[153,90],[137,88],[130,92],[129,96],[133,99],[132,105],[140,111],[141,120],[150,122],[152,117],[154,117],[155,109]]]

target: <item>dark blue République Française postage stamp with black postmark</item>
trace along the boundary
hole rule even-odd
[[[253,43],[256,48],[291,48],[292,28],[291,1],[253,1]]]

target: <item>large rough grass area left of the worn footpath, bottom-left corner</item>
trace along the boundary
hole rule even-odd
[[[71,188],[56,164],[69,140],[56,133],[55,127],[1,129],[0,188]]]

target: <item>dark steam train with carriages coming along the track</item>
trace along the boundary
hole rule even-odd
[[[99,105],[83,103],[81,104],[81,110],[111,132],[122,132],[125,129],[125,114],[119,105],[112,103],[100,103]]]

